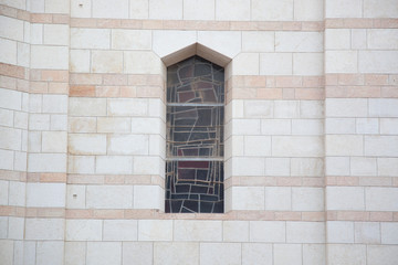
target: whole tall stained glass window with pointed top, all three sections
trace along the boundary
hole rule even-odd
[[[166,212],[223,212],[223,80],[199,56],[167,68]]]

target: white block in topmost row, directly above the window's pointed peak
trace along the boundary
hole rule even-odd
[[[214,0],[184,0],[184,20],[214,20]]]

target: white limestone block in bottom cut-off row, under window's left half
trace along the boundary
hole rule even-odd
[[[199,264],[199,243],[154,243],[154,264]]]

